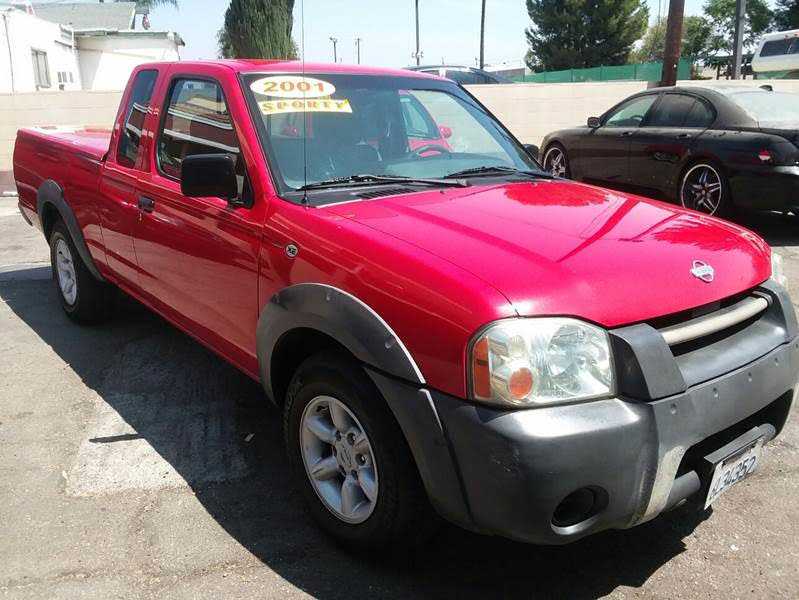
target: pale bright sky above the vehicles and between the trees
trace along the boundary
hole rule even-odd
[[[186,42],[184,59],[217,56],[216,32],[229,0],[178,0],[178,9],[152,11],[153,29],[177,31]],[[355,38],[362,38],[361,62],[386,67],[413,63],[414,0],[296,0],[294,39],[300,45],[305,14],[305,58],[330,62],[338,39],[338,59],[354,63]],[[650,17],[668,11],[668,0],[648,0]],[[686,14],[701,14],[704,0],[686,0]],[[422,63],[474,65],[479,55],[480,0],[419,0]],[[527,49],[524,29],[530,24],[524,0],[487,0],[487,64],[518,61]]]

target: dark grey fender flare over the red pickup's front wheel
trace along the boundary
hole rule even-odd
[[[298,328],[330,336],[355,358],[384,373],[419,385],[425,383],[402,340],[370,306],[330,285],[299,283],[272,296],[258,319],[256,348],[261,382],[273,401],[273,351],[284,334]]]

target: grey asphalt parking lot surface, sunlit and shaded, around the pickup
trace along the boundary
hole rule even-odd
[[[786,259],[799,218],[743,221]],[[79,327],[0,199],[0,595],[799,597],[799,421],[707,513],[535,547],[445,526],[406,560],[336,547],[292,489],[256,383],[132,300]]]

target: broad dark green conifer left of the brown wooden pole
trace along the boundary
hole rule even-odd
[[[527,0],[527,13],[534,71],[624,64],[649,20],[644,0]]]

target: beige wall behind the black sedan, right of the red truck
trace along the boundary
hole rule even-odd
[[[749,86],[770,84],[777,91],[799,93],[799,80],[681,81],[691,86]],[[647,88],[645,81],[597,83],[517,83],[476,85],[469,91],[527,144],[540,144],[552,131],[584,125],[630,94]]]

